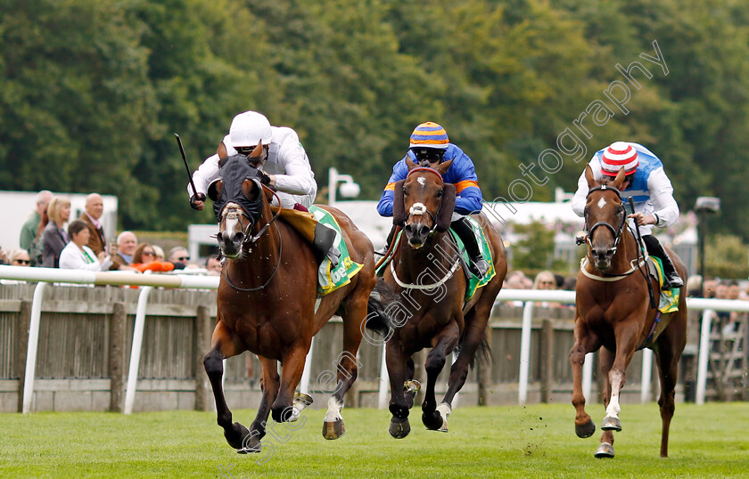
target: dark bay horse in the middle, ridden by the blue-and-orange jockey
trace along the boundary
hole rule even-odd
[[[507,271],[505,247],[498,231],[486,216],[473,215],[489,239],[496,274],[465,304],[463,266],[449,238],[455,186],[442,181],[451,164],[449,160],[430,168],[408,160],[407,178],[395,189],[393,223],[403,225],[404,234],[393,244],[396,250],[383,280],[384,290],[389,292],[387,311],[396,326],[387,342],[386,361],[391,381],[389,432],[397,439],[410,432],[408,410],[416,395],[412,356],[426,347],[432,350],[424,364],[427,384],[422,422],[428,429],[447,432],[453,398],[465,384],[474,354],[480,348],[488,352],[487,323]],[[381,285],[378,283],[377,290]],[[394,311],[398,313],[390,313]],[[435,383],[447,356],[454,351],[459,355],[438,407]]]

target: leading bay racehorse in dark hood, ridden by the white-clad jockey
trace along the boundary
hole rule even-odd
[[[308,241],[271,209],[275,194],[263,185],[263,175],[251,166],[261,147],[245,157],[221,160],[222,180],[209,188],[219,218],[218,246],[226,256],[218,286],[218,312],[210,352],[203,363],[216,399],[218,425],[226,441],[240,453],[259,452],[268,414],[276,422],[296,420],[306,403],[294,402],[312,337],[333,316],[343,320],[343,353],[337,366],[337,386],[328,402],[323,435],[337,439],[345,432],[341,416],[343,395],[357,378],[356,355],[362,326],[378,324],[374,288],[374,248],[348,216],[325,207],[341,226],[350,258],[361,264],[350,283],[317,300],[317,259]],[[249,161],[248,161],[249,159]],[[345,261],[344,258],[341,258]],[[381,304],[380,304],[381,306]],[[368,309],[369,308],[369,309]],[[369,312],[369,316],[367,316]],[[222,360],[250,351],[262,366],[258,414],[250,428],[232,423],[221,385]],[[277,361],[282,364],[279,378]]]

